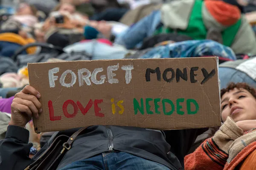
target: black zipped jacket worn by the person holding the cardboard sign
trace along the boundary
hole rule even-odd
[[[55,133],[31,160],[29,150],[32,144],[28,144],[29,131],[21,127],[9,126],[6,138],[0,141],[0,170],[24,170],[46,150],[57,135],[72,135],[77,130],[76,128]],[[91,126],[76,138],[58,169],[74,161],[116,150],[156,161],[171,170],[181,170],[184,167],[184,156],[195,138],[205,130],[163,132],[137,127]]]

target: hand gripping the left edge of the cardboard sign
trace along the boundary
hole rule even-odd
[[[25,127],[32,116],[38,118],[38,113],[43,111],[38,98],[41,98],[41,95],[32,86],[26,86],[21,92],[17,93],[11,105],[12,118],[10,125]]]

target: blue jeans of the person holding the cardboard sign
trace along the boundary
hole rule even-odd
[[[102,153],[98,156],[75,161],[61,170],[170,170],[154,161],[149,161],[125,152]]]

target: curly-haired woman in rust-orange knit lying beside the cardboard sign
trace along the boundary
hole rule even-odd
[[[221,119],[224,124],[215,135],[185,157],[186,170],[255,169],[256,90],[245,83],[222,89]]]

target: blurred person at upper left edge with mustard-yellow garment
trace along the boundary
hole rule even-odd
[[[14,15],[1,21],[0,55],[11,57],[21,46],[34,43],[32,36],[34,25],[38,22],[37,9],[28,3],[20,3]],[[32,47],[22,54],[34,54],[37,48]]]

